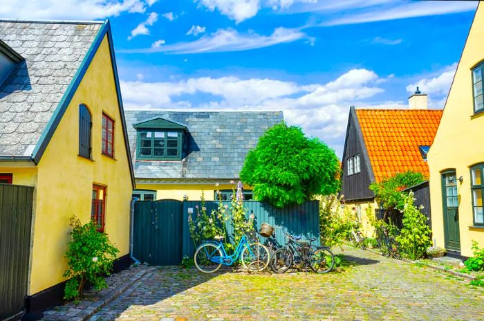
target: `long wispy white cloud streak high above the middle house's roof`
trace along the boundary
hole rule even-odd
[[[309,37],[297,29],[276,28],[271,35],[259,35],[257,33],[241,34],[232,28],[220,29],[211,35],[204,35],[194,42],[179,42],[158,48],[140,48],[120,50],[121,53],[219,53],[227,51],[246,51],[250,49],[263,48],[295,42],[299,39],[308,39],[312,44],[314,38]]]

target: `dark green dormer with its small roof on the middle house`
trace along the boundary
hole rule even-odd
[[[133,125],[138,131],[137,160],[181,160],[187,132],[185,125],[162,118]]]

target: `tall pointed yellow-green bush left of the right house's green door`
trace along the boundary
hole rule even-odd
[[[413,260],[420,259],[431,245],[431,230],[427,224],[427,217],[413,205],[413,192],[402,194],[402,199],[402,230],[396,240],[403,255]]]

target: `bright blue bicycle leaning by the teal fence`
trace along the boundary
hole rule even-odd
[[[195,251],[194,262],[196,268],[203,273],[214,273],[222,265],[231,266],[241,257],[244,268],[259,272],[269,264],[269,250],[258,241],[249,243],[244,235],[237,244],[234,254],[227,255],[223,246],[224,237],[214,237],[214,241],[203,241]]]

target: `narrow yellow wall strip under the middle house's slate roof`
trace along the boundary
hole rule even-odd
[[[189,201],[199,201],[202,190],[205,193],[206,201],[214,201],[214,191],[232,190],[233,185],[220,184],[143,184],[136,183],[138,190],[156,190],[156,199],[178,199],[183,201],[183,196],[187,195]],[[252,187],[244,186],[245,190],[252,190]]]

